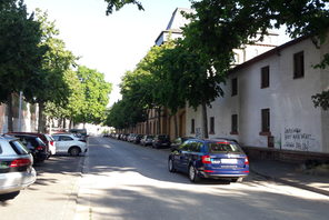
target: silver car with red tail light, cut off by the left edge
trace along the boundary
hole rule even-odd
[[[33,157],[17,139],[0,136],[0,200],[13,199],[37,179]]]

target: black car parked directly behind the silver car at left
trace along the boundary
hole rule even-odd
[[[43,162],[49,158],[47,144],[36,134],[28,133],[8,133],[9,136],[20,139],[20,141],[30,150],[36,162]]]

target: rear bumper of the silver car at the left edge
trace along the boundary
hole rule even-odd
[[[37,172],[31,168],[29,172],[11,172],[0,174],[0,194],[22,190],[37,180]]]

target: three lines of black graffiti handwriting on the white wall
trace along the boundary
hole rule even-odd
[[[282,142],[289,150],[316,151],[318,148],[315,137],[299,128],[285,128]]]

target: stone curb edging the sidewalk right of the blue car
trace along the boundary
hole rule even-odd
[[[280,182],[280,183],[289,184],[291,187],[300,188],[300,189],[303,189],[303,190],[312,191],[312,192],[316,192],[316,193],[319,193],[319,194],[323,194],[323,196],[329,197],[329,191],[327,191],[327,190],[318,189],[318,188],[315,188],[315,187],[309,187],[307,184],[295,182],[292,180],[285,180],[285,179],[281,179],[281,178],[271,177],[269,174],[263,174],[263,173],[260,173],[260,172],[258,172],[258,171],[256,171],[253,169],[250,169],[250,170],[251,170],[251,172],[253,172],[253,173],[256,173],[256,174],[258,174],[260,177],[263,177],[267,180],[272,180],[275,182]]]

